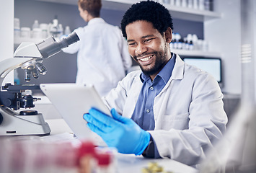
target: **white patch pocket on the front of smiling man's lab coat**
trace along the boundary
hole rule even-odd
[[[177,114],[177,115],[164,115],[162,118],[163,130],[170,130],[175,128],[177,130],[184,130],[188,128],[189,113]]]

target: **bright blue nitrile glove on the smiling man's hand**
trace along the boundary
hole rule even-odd
[[[111,114],[112,117],[92,108],[84,114],[84,120],[107,146],[115,147],[123,154],[142,154],[149,145],[149,132],[142,130],[130,118],[120,116],[115,109],[111,110]]]

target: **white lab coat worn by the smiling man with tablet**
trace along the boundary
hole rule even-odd
[[[120,115],[130,117],[141,92],[141,71],[133,71],[104,98]],[[213,76],[176,56],[172,76],[154,99],[155,129],[150,130],[159,155],[187,165],[205,158],[206,150],[226,131],[223,94]]]

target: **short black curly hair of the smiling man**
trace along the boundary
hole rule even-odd
[[[133,4],[123,15],[121,22],[123,37],[127,38],[125,27],[139,20],[151,22],[161,35],[163,35],[168,27],[173,30],[172,17],[168,9],[155,1],[141,1]]]

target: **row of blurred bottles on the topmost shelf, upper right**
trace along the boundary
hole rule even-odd
[[[181,6],[189,9],[199,9],[210,11],[213,6],[213,0],[155,0],[162,4],[171,6]]]

